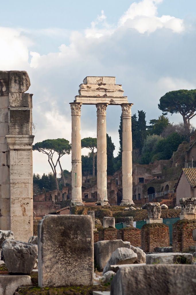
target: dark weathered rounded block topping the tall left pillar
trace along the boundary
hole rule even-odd
[[[25,92],[31,83],[26,71],[9,72],[9,92]]]

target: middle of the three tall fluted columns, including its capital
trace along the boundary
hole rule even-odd
[[[107,140],[106,108],[108,104],[96,104],[97,107],[97,205],[106,206],[107,196]]]

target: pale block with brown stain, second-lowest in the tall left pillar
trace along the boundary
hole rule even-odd
[[[30,198],[12,197],[10,199],[11,216],[32,216],[31,207],[32,204]]]

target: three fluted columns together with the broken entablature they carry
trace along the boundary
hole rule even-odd
[[[79,86],[79,95],[71,105],[72,116],[72,205],[83,206],[80,116],[82,104],[95,104],[97,108],[97,205],[109,205],[107,197],[107,146],[106,108],[121,105],[123,118],[123,154],[121,205],[133,205],[132,200],[132,135],[131,106],[123,96],[122,85],[115,84],[115,77],[86,77]]]

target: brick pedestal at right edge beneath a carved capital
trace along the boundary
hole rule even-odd
[[[196,220],[178,220],[172,227],[173,252],[190,252],[189,247],[195,246],[192,231],[196,229]]]

